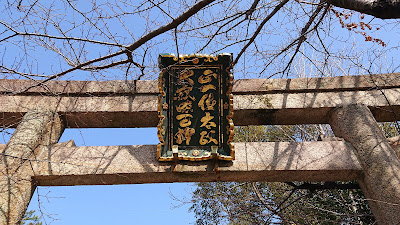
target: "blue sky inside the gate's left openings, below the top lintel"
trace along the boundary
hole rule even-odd
[[[71,139],[78,146],[158,143],[156,128],[67,129],[60,141]],[[180,202],[173,197],[190,199],[193,185],[39,187],[28,210],[43,212],[45,221],[53,225],[190,224],[195,221],[194,214],[188,212],[190,204],[174,207]]]

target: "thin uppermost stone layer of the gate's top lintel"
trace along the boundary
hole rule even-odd
[[[400,87],[400,73],[297,79],[238,79],[234,94],[353,91]],[[158,94],[158,82],[150,80],[39,81],[0,79],[0,93],[13,95],[132,95]],[[27,91],[28,87],[35,86]],[[22,91],[24,91],[22,93]]]

